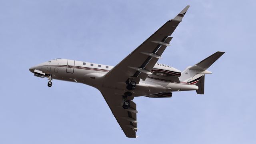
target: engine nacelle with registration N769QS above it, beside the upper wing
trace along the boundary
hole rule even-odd
[[[159,63],[156,63],[154,68],[152,68],[151,72],[156,76],[180,77],[180,75],[181,75],[180,70],[177,70],[176,68],[173,68],[173,67],[168,66],[166,64],[159,64]]]

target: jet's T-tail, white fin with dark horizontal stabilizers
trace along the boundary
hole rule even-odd
[[[215,52],[198,64],[195,64],[194,66],[188,66],[181,73],[180,82],[195,84],[196,86],[198,86],[198,90],[196,90],[196,93],[204,94],[204,75],[212,74],[212,72],[208,71],[207,68],[209,68],[224,53],[225,52]]]

